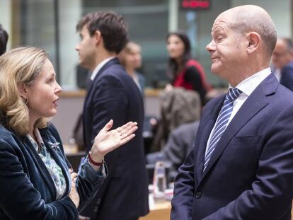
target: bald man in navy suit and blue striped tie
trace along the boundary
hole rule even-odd
[[[258,6],[231,8],[214,21],[211,70],[230,88],[203,110],[171,219],[291,219],[293,93],[270,71],[276,39]]]

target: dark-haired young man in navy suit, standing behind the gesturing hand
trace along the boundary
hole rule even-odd
[[[132,141],[105,156],[109,174],[93,201],[93,219],[138,219],[149,212],[142,139],[144,109],[139,88],[116,58],[127,43],[127,25],[114,12],[96,12],[81,18],[76,30],[81,35],[76,46],[79,62],[92,71],[83,112],[87,149],[110,119],[114,129],[129,121],[139,127]]]

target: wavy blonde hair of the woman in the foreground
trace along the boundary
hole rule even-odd
[[[1,123],[20,135],[28,134],[27,100],[19,88],[32,85],[42,72],[47,52],[36,47],[17,47],[0,57],[0,118]],[[41,117],[35,127],[46,127],[48,118]]]

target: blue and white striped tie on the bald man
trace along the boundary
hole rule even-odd
[[[204,163],[203,171],[205,171],[205,168],[207,168],[209,159],[211,158],[212,153],[214,152],[214,149],[216,148],[217,143],[219,142],[219,139],[221,139],[222,134],[224,133],[227,127],[229,118],[233,110],[233,102],[240,94],[241,94],[241,91],[238,88],[229,88],[229,91],[226,93],[226,98],[224,100],[222,109],[219,112],[217,124],[214,127],[214,132],[209,141],[209,146],[207,146],[208,149],[206,151],[207,154],[205,154],[205,163]]]

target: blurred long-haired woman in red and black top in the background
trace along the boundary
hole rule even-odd
[[[172,80],[172,86],[197,91],[204,105],[210,86],[202,66],[191,57],[188,36],[180,31],[171,32],[166,37],[166,43],[169,53],[168,76]],[[172,86],[168,84],[166,90],[170,90]]]

